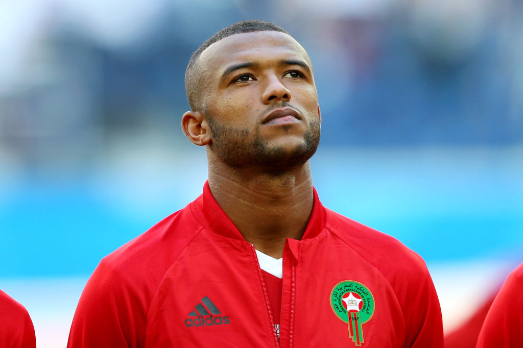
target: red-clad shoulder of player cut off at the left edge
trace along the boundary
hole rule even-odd
[[[35,328],[29,313],[0,290],[0,347],[36,348]]]

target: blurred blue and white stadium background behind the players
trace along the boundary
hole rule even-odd
[[[180,130],[204,40],[274,21],[309,52],[323,204],[419,253],[446,333],[523,261],[523,3],[0,2],[0,288],[63,347],[101,258],[201,193]],[[392,260],[391,260],[392,262]]]

